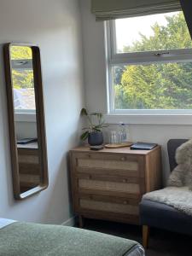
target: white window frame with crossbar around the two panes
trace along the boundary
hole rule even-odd
[[[105,22],[107,54],[108,114],[117,115],[192,115],[192,109],[115,109],[113,67],[115,65],[142,65],[152,63],[192,62],[192,49],[152,50],[146,52],[117,53],[115,20]]]

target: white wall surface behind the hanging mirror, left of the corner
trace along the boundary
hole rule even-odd
[[[79,143],[84,103],[78,0],[0,0],[0,218],[61,224],[72,216],[67,152]],[[25,201],[13,198],[3,73],[4,43],[38,44],[44,79],[49,188]]]

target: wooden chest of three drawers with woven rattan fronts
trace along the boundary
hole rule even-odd
[[[160,147],[70,152],[73,209],[82,218],[100,218],[139,224],[143,194],[160,189]]]

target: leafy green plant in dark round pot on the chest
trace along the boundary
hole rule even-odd
[[[81,135],[81,140],[88,138],[90,146],[98,146],[103,143],[102,128],[108,127],[105,124],[102,113],[88,113],[85,108],[81,109],[81,116],[85,116],[88,121],[88,126],[84,127],[84,133]]]

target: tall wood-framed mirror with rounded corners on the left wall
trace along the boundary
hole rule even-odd
[[[14,195],[21,200],[48,187],[39,48],[5,44],[4,63]]]

